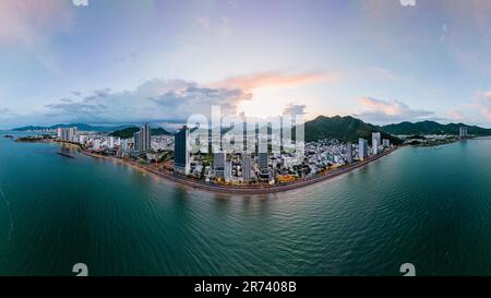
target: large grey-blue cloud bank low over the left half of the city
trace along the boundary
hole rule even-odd
[[[224,115],[235,115],[239,103],[250,99],[251,94],[239,88],[211,88],[182,80],[155,79],[134,91],[103,88],[82,99],[75,97],[46,105],[47,116],[89,122],[185,120],[193,114],[209,116],[213,105],[219,105]]]

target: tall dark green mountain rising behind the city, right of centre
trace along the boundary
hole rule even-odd
[[[380,127],[372,126],[351,116],[325,117],[319,116],[304,123],[306,141],[337,139],[340,142],[358,142],[359,138],[371,140],[372,132],[381,132],[382,139],[388,139],[392,144],[400,144],[402,140],[388,134]],[[369,142],[370,143],[370,142]]]

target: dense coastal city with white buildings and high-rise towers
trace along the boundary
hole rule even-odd
[[[252,152],[191,152],[190,128],[183,126],[175,134],[165,132],[153,135],[148,123],[143,124],[132,136],[117,136],[117,132],[79,131],[76,127],[59,127],[46,130],[35,140],[76,144],[84,152],[122,160],[137,163],[176,177],[185,177],[208,184],[261,186],[291,183],[335,172],[350,165],[370,160],[372,157],[395,150],[398,145],[383,139],[381,132],[372,132],[371,140],[359,138],[358,142],[340,142],[324,139],[302,143],[302,155],[288,153],[282,147],[273,153],[271,146],[282,146],[274,133],[261,134],[255,131],[251,140],[255,148]],[[125,135],[128,136],[128,135]],[[452,142],[469,136],[467,127],[459,127],[458,135],[397,135],[403,144],[426,145]],[[212,141],[212,135],[208,136]],[[229,142],[230,135],[220,135],[218,140]],[[31,139],[31,138],[29,138]],[[267,152],[259,151],[261,140],[267,140]],[[215,140],[216,141],[216,140]],[[244,138],[244,143],[248,140]],[[209,142],[211,143],[211,142]]]

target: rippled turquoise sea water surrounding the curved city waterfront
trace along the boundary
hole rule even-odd
[[[0,275],[491,275],[490,140],[259,196],[57,150],[0,138]]]

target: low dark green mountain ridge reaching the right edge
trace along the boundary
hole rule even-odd
[[[440,124],[434,121],[400,122],[382,127],[385,132],[392,134],[458,134],[460,127],[467,127],[467,133],[475,135],[491,135],[491,129],[484,129],[464,123]]]

